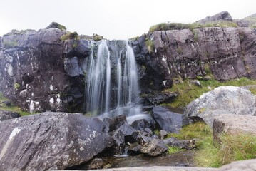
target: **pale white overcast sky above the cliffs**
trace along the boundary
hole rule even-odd
[[[193,23],[221,11],[232,19],[256,13],[255,0],[0,0],[0,36],[56,21],[78,34],[128,39],[163,22]]]

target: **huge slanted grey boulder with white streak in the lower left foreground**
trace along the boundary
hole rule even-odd
[[[113,145],[98,118],[40,113],[0,123],[0,170],[60,170]]]

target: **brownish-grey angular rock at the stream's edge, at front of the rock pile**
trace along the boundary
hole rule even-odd
[[[168,147],[165,146],[163,140],[153,139],[150,142],[146,142],[140,151],[150,156],[158,156],[167,150]]]

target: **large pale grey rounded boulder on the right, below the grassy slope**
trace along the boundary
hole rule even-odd
[[[183,123],[187,125],[196,120],[203,120],[213,128],[216,116],[255,115],[255,106],[256,96],[249,90],[235,86],[220,86],[187,105]]]

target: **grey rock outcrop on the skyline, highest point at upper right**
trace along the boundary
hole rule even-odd
[[[222,11],[218,14],[215,14],[214,16],[208,16],[205,19],[201,19],[196,22],[199,24],[208,24],[214,21],[233,21],[233,20],[232,20],[232,16],[230,16],[230,14],[227,11]]]

